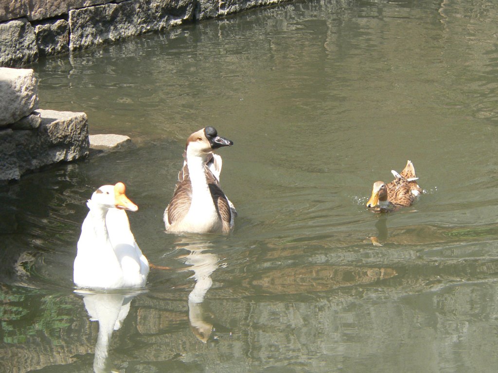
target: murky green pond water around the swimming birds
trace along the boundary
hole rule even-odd
[[[492,0],[296,2],[35,66],[40,107],[135,146],[1,190],[0,371],[495,372],[497,16]],[[235,142],[219,152],[235,231],[166,234],[185,139],[207,125]],[[367,211],[407,159],[425,193]],[[172,270],[75,293],[85,201],[117,181]]]

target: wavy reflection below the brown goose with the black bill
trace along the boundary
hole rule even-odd
[[[188,318],[192,332],[204,343],[209,340],[214,328],[203,302],[207,291],[213,285],[211,274],[219,267],[218,256],[207,252],[209,246],[208,243],[190,243],[184,247],[190,253],[180,258],[190,266],[188,271],[194,271],[191,278],[195,280],[195,285],[188,296]]]

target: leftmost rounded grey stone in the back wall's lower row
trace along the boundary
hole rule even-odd
[[[0,66],[20,66],[36,61],[36,37],[27,19],[0,23]]]

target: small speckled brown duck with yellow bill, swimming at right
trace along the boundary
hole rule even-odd
[[[374,208],[375,212],[393,211],[400,207],[411,206],[415,197],[422,193],[415,176],[415,168],[411,161],[406,162],[406,166],[398,174],[391,170],[394,180],[388,184],[384,182],[373,183],[372,196],[367,202],[367,207]]]

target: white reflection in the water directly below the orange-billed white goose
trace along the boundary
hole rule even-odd
[[[95,373],[115,372],[108,362],[109,344],[115,330],[119,330],[128,315],[131,300],[139,293],[84,292],[76,291],[83,296],[83,303],[91,321],[99,322],[99,334],[95,345]]]

